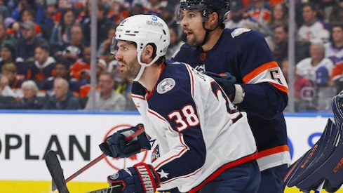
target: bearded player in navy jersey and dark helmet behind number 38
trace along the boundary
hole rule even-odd
[[[248,113],[262,171],[259,192],[283,192],[282,175],[290,164],[283,117],[288,85],[261,34],[224,29],[229,10],[229,0],[181,0],[177,20],[187,44],[173,60],[213,76],[234,105]]]

